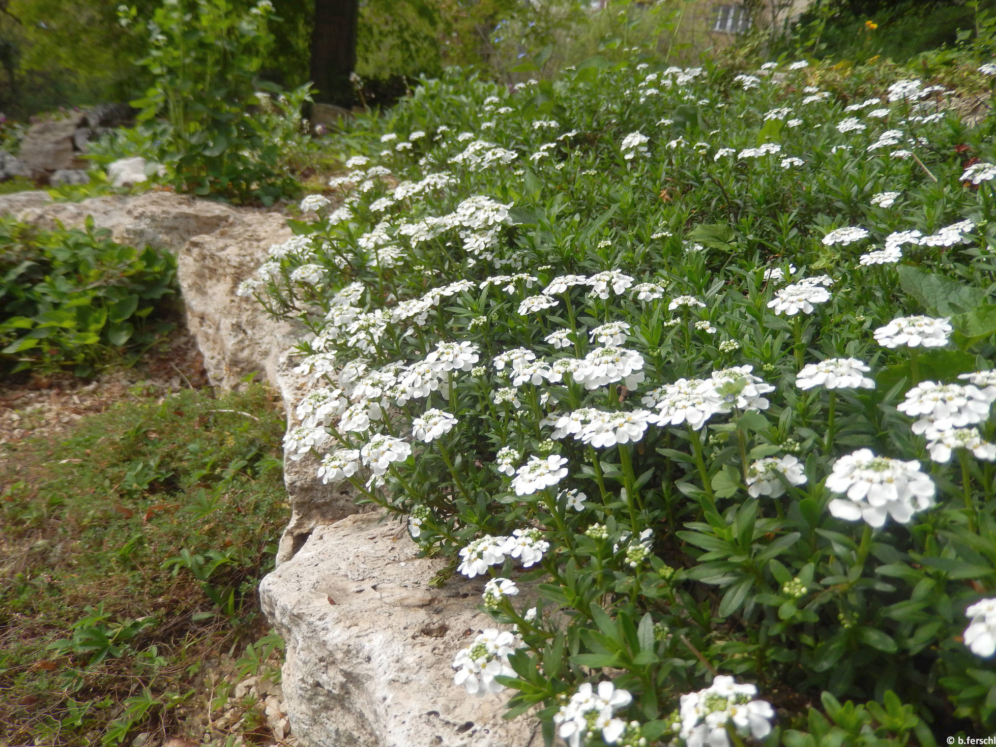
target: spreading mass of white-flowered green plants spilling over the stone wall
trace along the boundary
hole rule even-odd
[[[992,731],[996,119],[893,70],[456,71],[342,135],[240,293],[313,333],[291,458],[481,579],[452,696],[573,747]]]

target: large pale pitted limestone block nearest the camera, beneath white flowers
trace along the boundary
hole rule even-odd
[[[417,558],[403,524],[361,514],[315,529],[260,586],[287,642],[283,690],[309,747],[539,747],[535,720],[505,721],[511,692],[477,698],[450,662],[491,626],[482,583],[429,582],[445,561]]]

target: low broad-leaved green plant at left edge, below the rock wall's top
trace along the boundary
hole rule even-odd
[[[174,293],[175,260],[95,229],[44,231],[0,220],[0,361],[8,371],[92,373],[169,325],[154,312]]]

